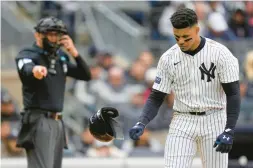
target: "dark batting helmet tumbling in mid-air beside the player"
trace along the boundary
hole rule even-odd
[[[123,129],[113,118],[119,116],[117,109],[103,107],[90,117],[89,129],[91,134],[99,141],[109,142],[115,139],[124,139]]]

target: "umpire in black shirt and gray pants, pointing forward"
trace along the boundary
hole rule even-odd
[[[66,77],[89,81],[91,74],[61,20],[41,19],[34,36],[35,43],[15,59],[24,104],[17,146],[26,149],[28,168],[60,168],[67,148],[61,113]]]

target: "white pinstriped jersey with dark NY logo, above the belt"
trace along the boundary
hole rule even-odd
[[[221,83],[239,80],[238,60],[222,44],[206,38],[205,46],[194,56],[177,44],[160,58],[153,88],[175,94],[173,109],[202,112],[224,109],[226,95]]]

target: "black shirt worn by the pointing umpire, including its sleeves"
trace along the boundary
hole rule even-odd
[[[56,53],[56,74],[49,72],[50,59],[47,52],[36,44],[24,48],[16,57],[18,74],[23,84],[24,109],[42,109],[61,112],[63,109],[66,76],[79,80],[91,79],[89,67],[81,56],[75,58],[76,65],[70,63],[69,57],[63,51]],[[47,76],[41,80],[33,76],[35,65],[42,65],[48,69]]]

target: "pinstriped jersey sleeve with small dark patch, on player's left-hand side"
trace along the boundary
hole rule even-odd
[[[162,56],[157,65],[157,73],[153,89],[169,94],[173,82],[172,67],[168,62],[169,56]]]

